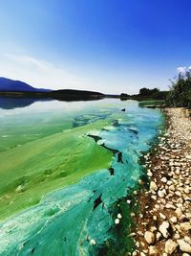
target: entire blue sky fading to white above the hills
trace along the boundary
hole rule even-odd
[[[8,0],[0,76],[36,87],[167,89],[191,65],[190,0]]]

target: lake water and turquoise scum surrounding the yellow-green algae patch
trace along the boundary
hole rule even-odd
[[[126,111],[121,113],[123,107]],[[24,130],[29,130],[25,143],[35,139],[33,134],[48,136],[59,129],[84,126],[107,118],[115,112],[120,112],[119,118],[110,126],[84,134],[114,152],[112,172],[97,170],[74,185],[49,193],[39,204],[2,221],[0,255],[96,255],[97,249],[112,238],[110,230],[115,223],[111,207],[137,184],[142,172],[138,158],[150,149],[162,125],[159,110],[138,107],[138,103],[133,101],[70,104],[54,101],[0,110],[5,120],[1,131],[11,126],[13,120],[17,128],[24,123]],[[32,118],[29,118],[29,113]],[[18,116],[22,118],[18,120]],[[30,127],[35,124],[38,128],[31,128],[30,134]],[[8,136],[14,136],[13,129]],[[15,147],[15,142],[11,144],[11,141],[14,140],[4,144],[2,151]],[[23,142],[23,138],[20,141]]]

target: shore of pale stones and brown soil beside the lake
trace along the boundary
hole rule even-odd
[[[191,255],[191,119],[182,108],[165,113],[158,149],[144,156],[150,189],[138,196],[133,256]]]

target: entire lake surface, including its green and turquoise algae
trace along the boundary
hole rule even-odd
[[[162,126],[159,110],[53,101],[0,109],[0,119],[0,255],[96,255],[112,237],[111,207],[138,182],[138,157]]]

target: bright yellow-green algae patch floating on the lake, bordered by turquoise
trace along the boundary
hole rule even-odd
[[[97,121],[68,129],[0,153],[0,216],[5,219],[37,204],[47,193],[100,169],[113,154],[98,146],[88,131],[107,126]]]

